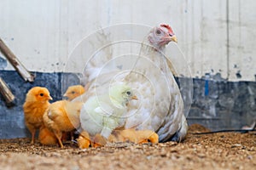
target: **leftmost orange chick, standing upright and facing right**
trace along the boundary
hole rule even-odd
[[[49,99],[52,98],[47,88],[34,87],[26,94],[23,111],[26,127],[32,133],[32,144],[34,144],[37,129],[43,125],[43,115],[49,106]]]

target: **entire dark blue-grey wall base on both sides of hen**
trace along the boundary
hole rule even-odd
[[[15,71],[0,72],[0,77],[8,83],[16,97],[14,105],[7,106],[0,94],[0,139],[30,136],[24,124],[22,109],[30,88],[48,88],[55,101],[62,99],[61,94],[68,86],[80,83],[73,74],[35,74],[35,82],[30,83],[24,82]],[[256,118],[256,82],[193,79],[193,89],[193,103],[187,117],[189,124],[200,123],[212,130],[237,129]]]

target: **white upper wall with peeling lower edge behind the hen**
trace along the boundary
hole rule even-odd
[[[166,22],[192,77],[255,81],[255,7],[253,0],[1,0],[0,36],[29,70],[53,72],[63,71],[77,43],[102,27]]]

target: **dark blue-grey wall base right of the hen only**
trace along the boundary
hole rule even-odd
[[[240,129],[256,120],[256,82],[194,79],[189,123],[214,131]]]

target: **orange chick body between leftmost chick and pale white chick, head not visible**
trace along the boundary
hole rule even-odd
[[[61,148],[63,148],[61,142],[62,132],[71,132],[80,125],[79,114],[81,107],[81,102],[61,100],[49,105],[49,109],[44,113],[44,125],[55,133]]]

